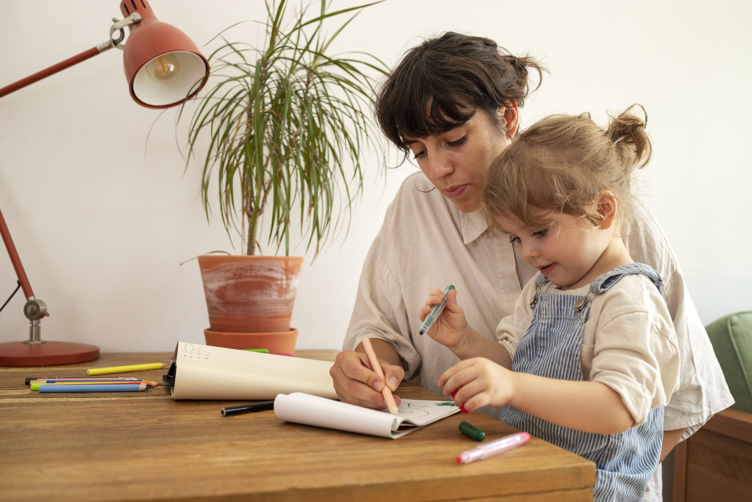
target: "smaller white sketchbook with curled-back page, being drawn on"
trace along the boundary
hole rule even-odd
[[[459,408],[452,401],[403,399],[399,415],[392,415],[388,409],[362,408],[302,392],[274,399],[274,414],[280,420],[393,440],[456,412]]]

